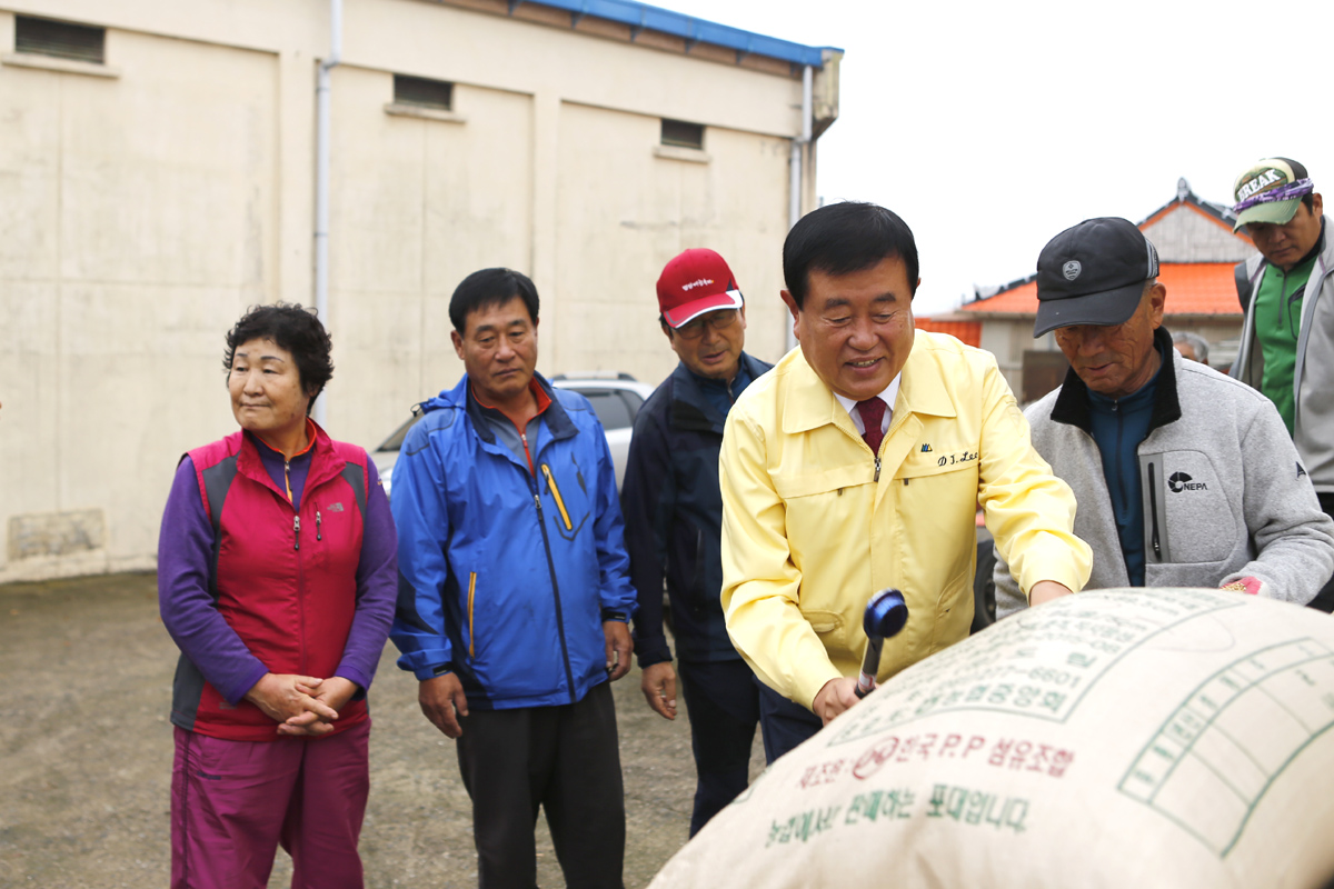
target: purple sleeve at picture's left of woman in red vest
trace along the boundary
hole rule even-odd
[[[195,462],[185,457],[176,466],[157,537],[157,608],[176,646],[235,706],[268,668],[217,610],[208,592],[212,557],[213,526],[204,512]]]

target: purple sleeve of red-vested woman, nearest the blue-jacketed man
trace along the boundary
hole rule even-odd
[[[343,660],[335,670],[335,676],[358,684],[352,700],[366,697],[366,689],[375,678],[375,668],[394,622],[399,582],[399,538],[394,530],[390,498],[384,496],[380,474],[370,460],[367,469],[371,484],[367,485],[362,521],[362,558],[356,565],[356,613],[343,648]]]

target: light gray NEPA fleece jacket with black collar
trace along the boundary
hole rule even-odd
[[[1255,577],[1261,594],[1305,605],[1334,570],[1334,522],[1278,409],[1250,387],[1173,357],[1158,376],[1149,436],[1139,443],[1146,586],[1221,586]],[[1129,586],[1102,456],[1090,433],[1089,391],[1065,384],[1026,412],[1033,445],[1075,492],[1075,536],[1093,546],[1085,589]],[[1027,606],[996,558],[996,616]]]

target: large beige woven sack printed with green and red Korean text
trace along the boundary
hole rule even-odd
[[[1205,589],[1081,593],[890,680],[652,889],[1322,886],[1331,724],[1330,616]]]

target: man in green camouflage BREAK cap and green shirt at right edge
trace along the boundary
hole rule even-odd
[[[1334,244],[1306,167],[1257,161],[1233,185],[1234,228],[1259,255],[1237,267],[1246,324],[1233,376],[1278,407],[1326,514],[1334,516]],[[1334,610],[1334,582],[1311,608]]]

